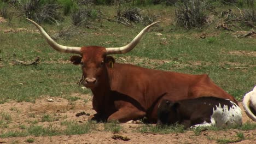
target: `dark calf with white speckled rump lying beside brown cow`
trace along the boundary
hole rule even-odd
[[[231,100],[216,97],[179,101],[162,100],[158,106],[157,125],[177,122],[185,128],[241,125],[242,111]]]

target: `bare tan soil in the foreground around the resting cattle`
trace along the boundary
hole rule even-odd
[[[20,130],[19,125],[29,127],[33,121],[38,121],[38,125],[48,127],[52,125],[59,129],[65,129],[60,123],[63,121],[75,121],[85,123],[89,116],[83,115],[76,117],[79,112],[86,112],[93,115],[91,95],[73,94],[72,97],[79,97],[77,101],[68,101],[61,97],[49,98],[47,96],[37,99],[35,103],[9,101],[0,105],[1,113],[7,113],[11,116],[8,128],[1,128],[0,134],[6,131]],[[50,102],[50,99],[53,99]],[[242,107],[243,122],[252,122]],[[50,115],[54,121],[42,121],[44,115]],[[255,123],[255,122],[252,122]],[[100,124],[101,125],[101,124]],[[227,131],[202,131],[200,135],[195,135],[194,131],[186,130],[185,133],[154,134],[138,133],[136,128],[142,124],[124,123],[123,129],[118,134],[105,131],[102,128],[83,135],[58,135],[58,136],[26,136],[26,137],[8,137],[0,138],[0,143],[28,143],[27,139],[34,139],[33,143],[217,143],[218,140],[229,140],[235,143],[254,143],[256,140],[256,129],[237,130],[229,129]],[[243,133],[245,140],[238,139],[237,132]],[[114,140],[113,135],[128,137],[130,140]]]

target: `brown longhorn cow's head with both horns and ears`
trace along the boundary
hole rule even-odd
[[[151,25],[142,29],[142,31],[131,41],[131,43],[122,47],[100,47],[100,46],[84,46],[84,47],[71,47],[57,44],[50,36],[40,27],[36,22],[31,21],[44,36],[48,44],[56,51],[66,53],[76,53],[80,56],[72,56],[71,62],[73,64],[81,64],[83,70],[83,85],[88,88],[95,88],[98,85],[98,79],[102,74],[103,68],[106,64],[113,65],[114,58],[107,56],[110,54],[121,54],[131,51],[141,40],[142,36],[148,31],[150,27],[158,22],[154,22]]]

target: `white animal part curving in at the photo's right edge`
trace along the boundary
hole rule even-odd
[[[254,87],[253,91],[247,93],[245,97],[243,97],[243,108],[245,109],[246,115],[256,122],[256,116],[252,113],[251,109],[249,108],[250,103],[254,103],[255,105],[256,103],[255,100],[256,100],[256,86]],[[256,107],[253,107],[253,108],[256,110]]]

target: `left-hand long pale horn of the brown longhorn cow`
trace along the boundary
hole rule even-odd
[[[44,31],[44,29],[42,27],[40,27],[36,22],[27,19],[29,21],[31,21],[40,31],[40,33],[44,36],[44,38],[46,39],[47,43],[53,47],[56,51],[60,51],[60,52],[66,52],[66,53],[77,53],[77,54],[82,54],[82,52],[80,52],[81,47],[71,47],[71,46],[63,46],[60,44],[57,44],[53,39],[51,39],[51,37]]]

